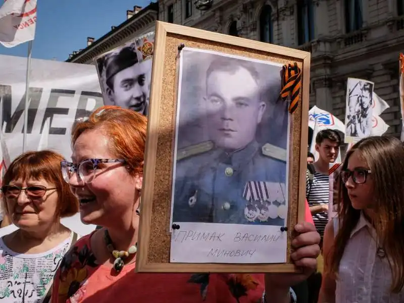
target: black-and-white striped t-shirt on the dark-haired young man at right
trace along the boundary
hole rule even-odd
[[[309,173],[306,173],[306,198],[310,207],[328,204],[329,190],[328,175],[315,172],[313,181],[310,182]],[[328,212],[314,214],[313,221],[318,233],[323,237],[328,222]]]

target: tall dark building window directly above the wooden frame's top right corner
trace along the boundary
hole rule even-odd
[[[297,42],[305,44],[314,39],[314,7],[310,0],[297,2]]]

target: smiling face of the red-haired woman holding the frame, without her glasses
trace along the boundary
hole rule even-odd
[[[87,159],[117,159],[111,152],[110,141],[100,129],[84,131],[73,147],[74,164]],[[122,163],[100,163],[94,173],[91,183],[84,183],[73,174],[69,185],[80,201],[81,220],[108,226],[113,220],[122,220],[128,209],[133,208],[141,182],[137,188],[139,178],[133,177]]]

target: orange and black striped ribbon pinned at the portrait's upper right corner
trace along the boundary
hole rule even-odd
[[[301,71],[297,63],[285,64],[282,67],[282,90],[280,96],[283,100],[290,96],[289,113],[291,114],[297,109],[300,87]]]

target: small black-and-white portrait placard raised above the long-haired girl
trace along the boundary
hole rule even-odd
[[[364,138],[372,131],[374,83],[348,78],[346,88],[345,137]]]

